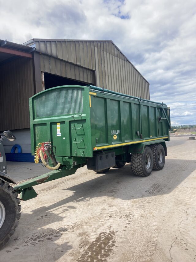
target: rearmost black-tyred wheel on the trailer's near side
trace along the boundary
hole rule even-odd
[[[151,146],[153,152],[153,170],[161,170],[165,165],[165,151],[161,144]]]

